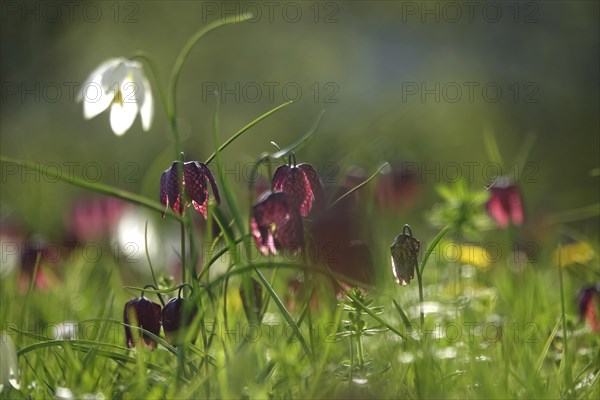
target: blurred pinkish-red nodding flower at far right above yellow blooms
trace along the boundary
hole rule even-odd
[[[498,178],[490,188],[490,198],[486,208],[501,228],[506,228],[509,221],[514,225],[523,223],[521,192],[507,177]]]

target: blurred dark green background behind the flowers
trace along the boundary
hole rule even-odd
[[[598,177],[591,171],[600,165],[598,2],[469,4],[3,1],[0,152],[58,163],[64,173],[65,162],[79,163],[75,176],[84,178],[99,167],[101,182],[158,200],[160,173],[173,149],[156,87],[151,130],[143,132],[138,118],[123,137],[111,132],[107,113],[85,121],[70,88],[106,59],[138,50],[154,59],[164,87],[194,32],[224,15],[251,11],[252,22],[211,33],[183,67],[177,105],[187,159],[204,160],[214,148],[214,85],[225,91],[223,140],[296,98],[300,88],[295,105],[224,153],[240,186],[244,165],[273,150],[270,141],[291,143],[326,110],[318,134],[297,154],[321,166],[325,180],[341,180],[351,165],[372,171],[383,160],[437,169],[421,175],[424,196],[414,214],[397,216],[399,224],[423,220],[422,211],[438,201],[433,187],[453,178],[444,173],[448,163],[482,163],[469,184],[489,183],[486,131],[496,136],[504,173],[526,135],[536,136],[530,179],[519,182],[528,215],[597,203]],[[474,87],[471,98],[465,82]],[[491,89],[486,94],[483,87]],[[494,95],[495,88],[501,94]],[[94,168],[85,171],[87,163]],[[2,169],[3,220],[60,235],[66,206],[82,190],[44,177],[36,184],[35,174],[13,174],[4,163]],[[597,228],[598,219],[585,223]]]

